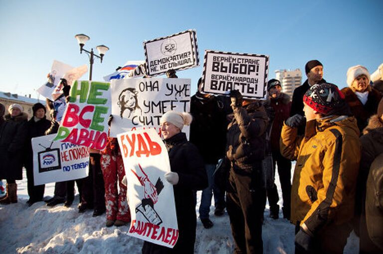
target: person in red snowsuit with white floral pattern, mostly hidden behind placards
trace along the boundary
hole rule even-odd
[[[109,118],[109,124],[113,117]],[[117,138],[108,137],[105,149],[101,152],[101,170],[104,176],[106,227],[124,226],[130,222],[130,211],[127,201],[127,186],[122,183],[125,176]],[[119,185],[120,192],[117,189]]]

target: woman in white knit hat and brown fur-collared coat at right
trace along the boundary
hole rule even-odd
[[[347,84],[349,87],[341,91],[350,106],[351,112],[358,121],[359,131],[362,134],[371,116],[377,114],[382,95],[370,85],[370,73],[366,67],[356,65],[347,71]]]

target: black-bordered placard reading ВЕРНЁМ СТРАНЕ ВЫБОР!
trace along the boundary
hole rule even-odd
[[[265,99],[269,56],[205,50],[202,93],[229,94],[238,90],[243,97]]]

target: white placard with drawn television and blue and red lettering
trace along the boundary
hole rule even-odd
[[[53,141],[55,134],[32,138],[34,185],[84,178],[89,148]]]

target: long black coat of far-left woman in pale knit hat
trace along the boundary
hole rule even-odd
[[[28,115],[5,116],[0,126],[0,179],[21,180]]]

